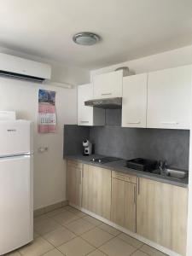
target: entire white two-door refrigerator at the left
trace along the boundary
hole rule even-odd
[[[0,121],[0,255],[33,239],[33,127]]]

